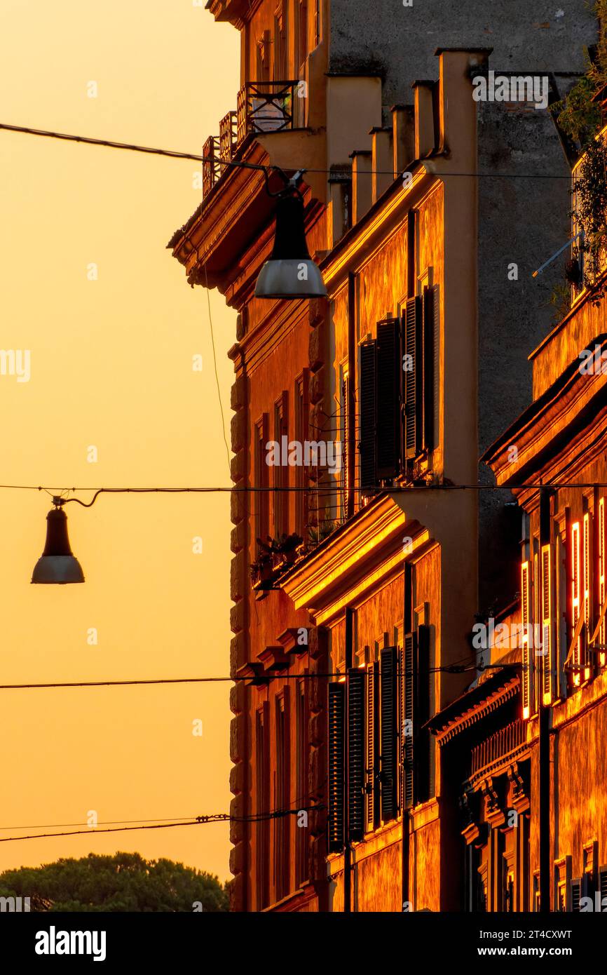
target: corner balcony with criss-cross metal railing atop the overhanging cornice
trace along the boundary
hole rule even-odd
[[[219,135],[209,136],[203,155],[203,196],[209,196],[248,136],[297,128],[295,115],[299,81],[247,81],[238,93],[237,110],[219,123]],[[303,107],[303,99],[301,99]]]

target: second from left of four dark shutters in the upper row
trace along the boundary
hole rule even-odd
[[[394,478],[400,468],[400,335],[398,319],[377,323],[377,477]]]

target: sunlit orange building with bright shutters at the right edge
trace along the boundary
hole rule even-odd
[[[607,321],[596,294],[573,288],[571,311],[530,354],[531,406],[485,458],[522,513],[515,652],[530,830],[520,883],[533,907],[544,882],[553,911],[607,909]]]

